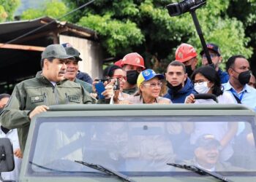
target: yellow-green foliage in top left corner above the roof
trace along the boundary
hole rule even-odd
[[[20,4],[20,0],[0,0],[0,22],[13,20],[15,10]]]

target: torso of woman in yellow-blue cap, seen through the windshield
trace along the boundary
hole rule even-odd
[[[166,165],[174,162],[176,154],[170,134],[178,130],[175,122],[130,122],[127,140],[119,147],[124,159],[124,171],[159,172],[170,171]],[[121,169],[122,170],[122,169]]]

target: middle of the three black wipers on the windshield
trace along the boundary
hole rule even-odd
[[[88,162],[83,162],[83,161],[77,161],[77,160],[75,160],[75,162],[78,162],[79,164],[85,165],[87,167],[91,167],[94,170],[102,171],[105,174],[116,176],[116,177],[118,177],[121,180],[135,182],[135,181],[132,181],[131,179],[129,179],[129,177],[127,175],[123,175],[121,173],[118,173],[117,171],[110,170],[107,167],[103,167],[102,165],[96,165],[96,164],[92,164],[92,163],[88,163]]]

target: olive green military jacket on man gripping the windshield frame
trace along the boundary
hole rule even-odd
[[[64,80],[54,87],[44,76],[37,74],[17,84],[1,113],[1,124],[8,129],[18,128],[20,149],[24,151],[29,132],[29,112],[36,106],[96,103],[80,84]]]

